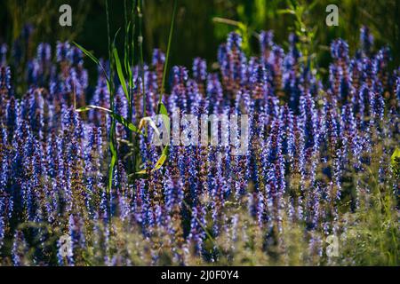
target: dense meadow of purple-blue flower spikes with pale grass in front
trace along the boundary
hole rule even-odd
[[[172,145],[160,169],[146,170],[161,154],[155,131],[132,134],[117,123],[110,188],[113,122],[76,109],[113,108],[133,125],[154,117],[164,53],[154,51],[143,77],[132,67],[131,104],[118,83],[110,101],[102,70],[89,85],[74,44],[40,43],[21,94],[11,70],[26,57],[29,32],[0,48],[0,264],[399,264],[400,69],[389,68],[389,49],[375,48],[368,28],[354,55],[345,40],[331,44],[324,83],[299,38],[284,49],[272,31],[260,33],[257,57],[230,33],[218,68],[200,58],[172,67],[163,99],[170,116],[247,114],[246,153]],[[109,73],[108,61],[100,64]],[[132,170],[132,135],[144,175]],[[68,256],[63,235],[72,241]]]

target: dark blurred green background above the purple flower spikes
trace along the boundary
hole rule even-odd
[[[110,18],[114,34],[124,27],[124,0],[111,0]],[[132,0],[127,1],[128,4]],[[73,26],[61,28],[59,7],[70,4]],[[339,27],[327,27],[325,8],[339,6]],[[166,50],[172,0],[143,0],[145,59],[151,59],[153,48]],[[292,10],[290,12],[289,10]],[[293,10],[295,13],[293,13]],[[172,43],[172,65],[190,66],[196,56],[216,60],[218,45],[229,31],[244,35],[244,50],[258,52],[255,32],[273,29],[275,41],[286,47],[289,33],[304,33],[305,49],[314,54],[322,72],[330,61],[329,43],[342,37],[356,50],[359,29],[367,25],[375,36],[377,46],[391,47],[396,66],[400,52],[400,0],[179,0],[175,34]],[[0,43],[12,43],[20,36],[24,24],[36,27],[33,41],[50,42],[75,40],[99,57],[107,57],[107,26],[105,0],[1,0]],[[123,36],[121,36],[122,38]],[[36,44],[32,44],[35,53]]]

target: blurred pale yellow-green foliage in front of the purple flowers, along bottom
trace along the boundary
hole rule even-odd
[[[373,172],[372,174],[376,174]],[[365,174],[364,177],[368,177]],[[390,181],[385,187],[390,187]],[[207,227],[202,225],[207,235],[206,250],[218,254],[218,261],[210,264],[188,246],[185,249],[185,263],[189,265],[400,265],[400,232],[398,230],[398,210],[393,191],[380,193],[375,185],[368,184],[370,192],[364,192],[364,204],[354,213],[341,214],[338,240],[338,256],[327,256],[329,245],[322,231],[305,231],[305,225],[284,215],[282,233],[279,242],[268,242],[267,229],[258,225],[250,216],[245,205],[231,204],[226,207],[224,216],[227,230],[213,237]],[[188,207],[189,209],[189,207]],[[210,215],[211,212],[207,211]],[[233,222],[235,220],[235,223]],[[200,220],[197,220],[200,222]],[[87,246],[82,252],[82,262],[76,265],[107,265],[105,259],[116,259],[116,265],[180,265],[174,258],[177,248],[173,236],[162,226],[154,227],[152,234],[144,239],[137,225],[128,224],[121,218],[112,220],[108,249],[103,247],[99,238],[106,228],[100,221],[88,221],[85,225]],[[42,227],[38,224],[24,224],[20,227]],[[92,233],[93,228],[98,233]],[[62,232],[57,226],[43,226],[38,236],[44,238],[41,248],[52,246]],[[309,246],[310,239],[315,240],[320,251]],[[267,240],[267,241],[266,241]],[[195,245],[195,244],[193,244]],[[268,247],[267,251],[265,250]],[[107,257],[106,257],[107,256]],[[156,257],[156,263],[154,261]],[[33,264],[34,250],[29,251],[22,260],[24,264]],[[129,262],[128,262],[129,260]],[[7,260],[4,259],[4,262]],[[6,264],[6,263],[3,263]]]

